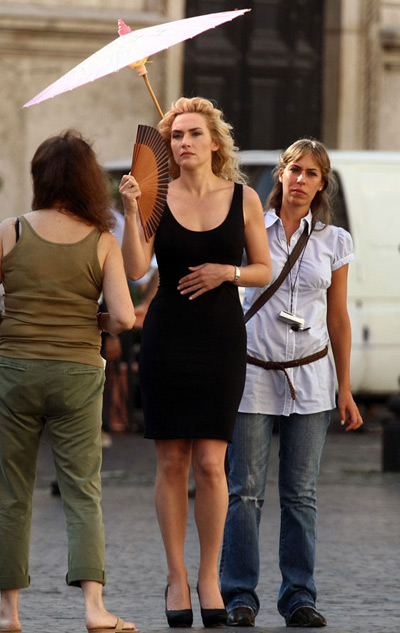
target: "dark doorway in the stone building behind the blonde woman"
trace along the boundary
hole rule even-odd
[[[320,138],[323,0],[187,0],[186,15],[249,13],[189,40],[184,94],[215,100],[240,149]]]

